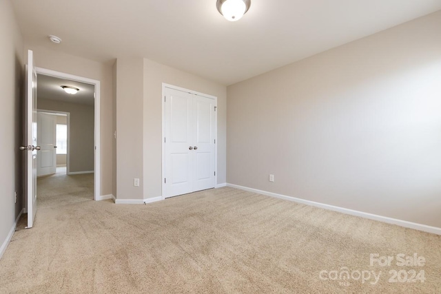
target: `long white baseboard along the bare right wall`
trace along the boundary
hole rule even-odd
[[[387,216],[378,216],[378,215],[372,214],[372,213],[356,211],[356,210],[353,210],[353,209],[346,209],[346,208],[343,208],[343,207],[336,207],[334,205],[323,204],[323,203],[320,203],[320,202],[304,200],[304,199],[300,199],[300,198],[295,198],[295,197],[291,197],[291,196],[281,195],[281,194],[278,194],[278,193],[271,193],[271,192],[267,192],[267,191],[262,191],[262,190],[253,189],[253,188],[249,188],[249,187],[243,187],[243,186],[234,185],[234,184],[228,184],[227,183],[227,187],[241,189],[241,190],[245,190],[245,191],[249,191],[249,192],[253,192],[253,193],[258,193],[258,194],[262,194],[262,195],[270,196],[270,197],[274,197],[274,198],[280,198],[280,199],[284,199],[284,200],[289,200],[289,201],[292,201],[292,202],[298,202],[298,203],[301,203],[301,204],[311,205],[311,206],[314,206],[314,207],[320,207],[322,209],[327,209],[327,210],[331,210],[331,211],[337,211],[337,212],[340,212],[340,213],[349,214],[351,216],[360,216],[361,218],[368,218],[369,220],[378,220],[380,222],[386,222],[388,224],[396,224],[396,225],[398,225],[400,227],[405,227],[405,228],[409,228],[409,229],[416,229],[418,231],[424,231],[424,232],[427,232],[427,233],[433,233],[433,234],[436,234],[436,235],[441,235],[441,228],[427,226],[426,224],[417,224],[416,222],[408,222],[407,220],[397,220],[396,218],[388,218]]]

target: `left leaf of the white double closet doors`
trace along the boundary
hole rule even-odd
[[[193,97],[167,89],[165,100],[165,197],[193,191]]]

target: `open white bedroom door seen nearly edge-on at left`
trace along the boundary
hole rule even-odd
[[[26,191],[28,194],[26,208],[28,211],[28,228],[34,225],[37,213],[37,72],[31,50],[28,50],[28,65],[26,67],[26,145],[21,149],[27,152],[26,160]]]

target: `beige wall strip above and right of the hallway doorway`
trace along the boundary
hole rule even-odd
[[[101,81],[101,196],[112,193],[112,65],[99,63],[61,52],[54,45],[54,50],[25,44],[26,49],[34,51],[37,67],[74,74]]]

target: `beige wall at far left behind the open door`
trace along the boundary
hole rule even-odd
[[[0,248],[24,206],[23,151],[23,39],[10,1],[0,1]],[[17,203],[14,204],[14,191]],[[0,251],[1,254],[1,251]]]

